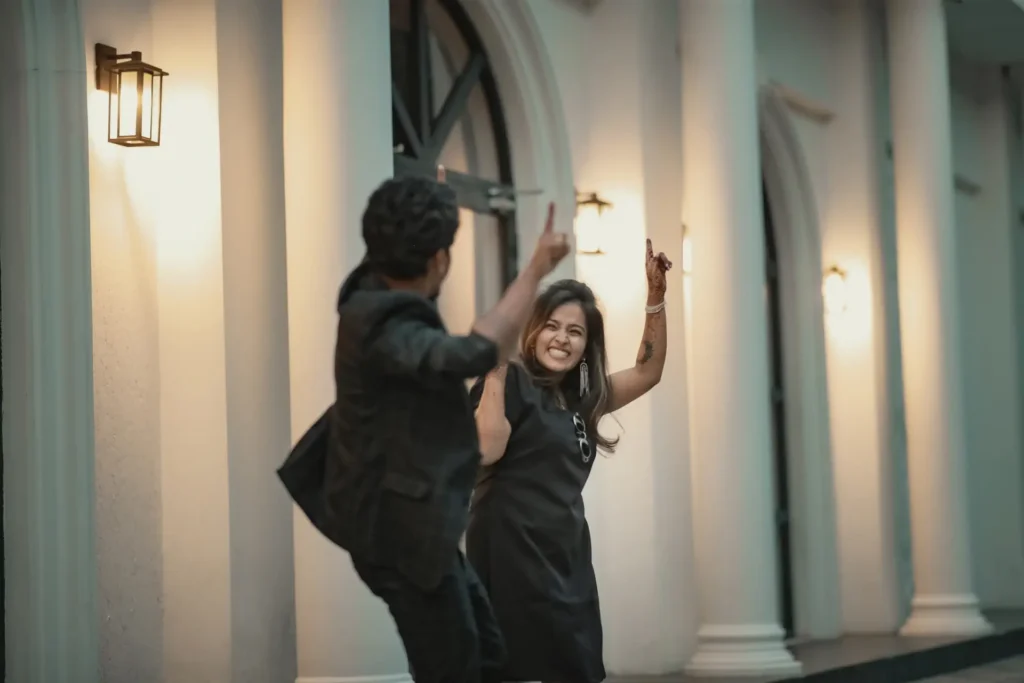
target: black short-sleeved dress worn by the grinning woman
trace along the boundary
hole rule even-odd
[[[473,387],[479,402],[482,380]],[[482,468],[466,555],[505,634],[504,680],[604,680],[601,610],[583,487],[596,449],[581,445],[572,410],[559,408],[526,371],[509,366],[505,456]]]

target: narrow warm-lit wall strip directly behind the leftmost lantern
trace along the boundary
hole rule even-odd
[[[90,76],[97,42],[152,54],[148,2],[85,0],[82,24]],[[87,93],[102,677],[162,681],[157,242],[129,184],[134,162],[151,151],[110,144],[105,93],[91,81]]]

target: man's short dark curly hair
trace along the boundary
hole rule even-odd
[[[458,227],[459,206],[449,185],[422,177],[385,180],[362,213],[367,260],[387,278],[416,280],[434,254],[452,247]]]

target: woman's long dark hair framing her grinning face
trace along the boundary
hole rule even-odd
[[[580,366],[564,374],[552,373],[537,359],[537,336],[551,319],[551,314],[559,306],[567,303],[579,304],[583,308],[587,323],[587,345],[583,358],[587,361],[590,391],[580,395]],[[534,303],[534,312],[522,332],[520,355],[534,382],[542,387],[560,393],[565,408],[578,412],[587,425],[587,434],[597,447],[612,453],[618,443],[602,436],[597,425],[605,416],[609,401],[608,355],[604,348],[604,316],[597,307],[597,299],[589,287],[575,280],[561,280],[551,285]],[[557,392],[555,391],[557,390]]]

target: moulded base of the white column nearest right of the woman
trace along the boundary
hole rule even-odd
[[[785,648],[784,636],[774,624],[702,626],[685,671],[696,677],[797,675],[802,667]]]

